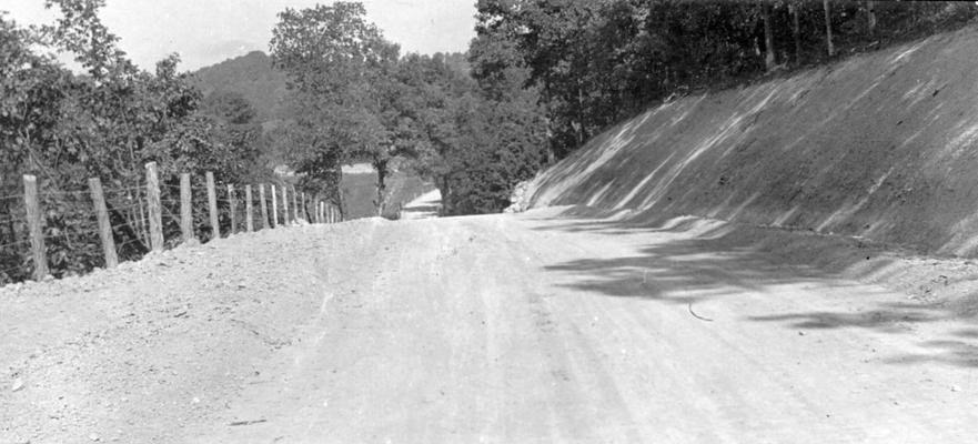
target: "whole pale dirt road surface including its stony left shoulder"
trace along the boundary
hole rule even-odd
[[[0,442],[978,432],[974,264],[568,213],[294,228],[7,289]]]

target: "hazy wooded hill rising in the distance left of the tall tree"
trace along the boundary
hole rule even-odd
[[[285,97],[285,74],[273,69],[272,59],[261,51],[201,68],[193,75],[204,95],[215,91],[244,95],[260,122],[275,120]]]

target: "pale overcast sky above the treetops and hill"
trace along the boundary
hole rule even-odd
[[[363,0],[367,17],[402,52],[462,52],[475,37],[476,0]],[[43,0],[0,0],[20,24],[50,22]],[[269,52],[275,14],[331,0],[108,0],[101,18],[143,69],[178,52],[195,70],[260,50]]]

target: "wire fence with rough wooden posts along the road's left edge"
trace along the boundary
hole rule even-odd
[[[265,228],[342,219],[332,203],[301,191],[293,194],[295,188],[286,183],[253,184],[249,199],[248,185],[229,188],[192,178],[184,190],[179,178],[164,179],[153,179],[159,183],[155,188],[148,185],[148,173],[137,184],[102,189],[99,182],[98,189],[34,191],[26,181],[22,194],[0,195],[0,285],[84,274],[190,239],[209,242]]]

